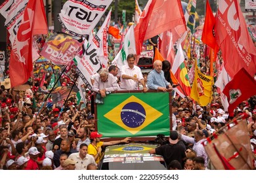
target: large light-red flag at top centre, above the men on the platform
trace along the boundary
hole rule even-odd
[[[170,12],[170,7],[175,11]],[[175,31],[175,35],[179,37],[186,31],[181,1],[148,1],[140,16],[139,24],[135,27],[137,55],[140,54],[144,40],[167,30]]]

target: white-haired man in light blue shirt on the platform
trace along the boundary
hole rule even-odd
[[[165,80],[161,67],[162,63],[160,60],[154,61],[154,70],[148,74],[148,88],[151,90],[161,90],[163,92],[167,92],[167,90],[171,89],[172,86],[171,83]]]

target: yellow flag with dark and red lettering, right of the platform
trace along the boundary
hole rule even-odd
[[[208,103],[211,103],[212,95],[212,86],[213,86],[213,77],[203,75],[198,69],[195,61],[195,78],[193,86],[191,89],[190,97],[198,102],[201,106],[206,106]]]

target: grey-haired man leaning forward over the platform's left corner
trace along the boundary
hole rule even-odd
[[[118,90],[116,78],[108,73],[108,69],[100,69],[95,77],[93,92],[100,93],[101,97],[106,97],[106,92]]]

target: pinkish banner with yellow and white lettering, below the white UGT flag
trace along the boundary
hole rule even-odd
[[[55,33],[45,43],[40,54],[56,65],[69,65],[82,44],[70,35]]]

